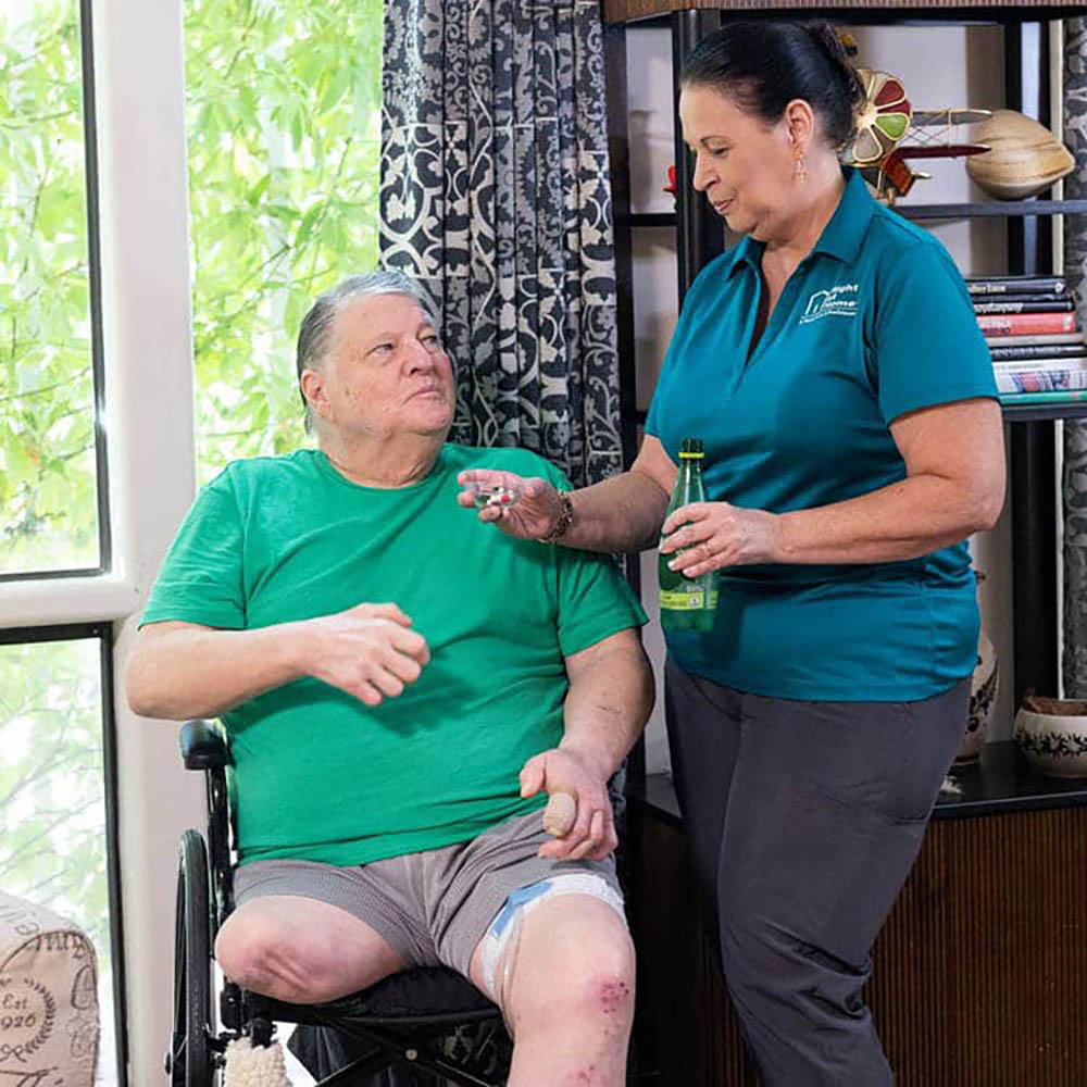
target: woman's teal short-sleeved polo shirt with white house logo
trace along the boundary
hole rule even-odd
[[[676,462],[684,437],[702,439],[711,501],[785,513],[867,493],[905,477],[895,418],[997,395],[947,250],[845,174],[750,358],[763,243],[745,238],[687,293],[646,430]],[[969,675],[977,634],[962,542],[904,562],[724,571],[713,630],[667,644],[688,672],[752,694],[907,701]]]

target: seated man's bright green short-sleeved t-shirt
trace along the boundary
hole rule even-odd
[[[376,708],[304,678],[224,714],[242,862],[363,864],[542,805],[517,775],[562,737],[564,658],[646,620],[607,555],[515,540],[459,507],[472,466],[566,485],[533,453],[447,445],[410,487],[357,486],[302,450],[230,464],[198,497],[142,623],[253,629],[391,601],[430,649]]]

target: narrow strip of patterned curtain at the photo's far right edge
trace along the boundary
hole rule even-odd
[[[1087,197],[1087,20],[1064,22],[1064,142],[1075,170],[1064,180],[1070,200]],[[1087,276],[1087,221],[1065,218],[1064,271],[1077,293],[1079,323]],[[1064,424],[1064,659],[1067,698],[1087,698],[1087,423]],[[1055,694],[1055,691],[1054,691]]]

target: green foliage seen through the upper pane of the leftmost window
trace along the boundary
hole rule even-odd
[[[82,93],[76,0],[0,7],[5,574],[99,561]]]

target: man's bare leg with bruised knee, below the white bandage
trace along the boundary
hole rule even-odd
[[[479,948],[470,974],[486,992]],[[634,945],[610,905],[588,895],[540,902],[503,950],[496,985],[513,1032],[508,1087],[625,1083]]]

